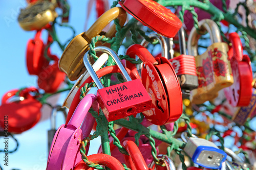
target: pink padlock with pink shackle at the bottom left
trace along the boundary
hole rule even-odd
[[[58,128],[48,156],[47,170],[70,170],[82,160],[79,152],[80,143],[84,137],[90,135],[95,122],[95,118],[88,111],[90,107],[94,110],[98,109],[95,94],[97,94],[97,88],[91,88],[78,104],[69,123]],[[86,154],[88,150],[87,146]]]

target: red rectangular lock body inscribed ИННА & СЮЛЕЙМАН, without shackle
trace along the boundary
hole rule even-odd
[[[152,100],[139,79],[99,89],[97,94],[109,122],[151,109]]]

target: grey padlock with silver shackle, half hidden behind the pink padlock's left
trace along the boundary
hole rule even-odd
[[[67,119],[66,109],[61,108],[61,106],[55,106],[52,109],[52,113],[50,115],[51,130],[48,131],[48,152],[50,152],[52,141],[53,141],[54,135],[57,131],[57,129],[56,129],[56,115],[57,115],[58,111],[61,111],[63,113],[63,115],[65,117],[65,120]]]

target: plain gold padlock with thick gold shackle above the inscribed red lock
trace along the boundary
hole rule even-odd
[[[126,16],[126,12],[121,7],[114,7],[102,14],[87,32],[83,32],[71,40],[59,60],[60,70],[65,72],[71,81],[77,80],[86,71],[83,56],[89,50],[91,39],[99,35],[108,23],[116,18],[119,19],[119,24],[122,27],[126,21]],[[116,27],[113,25],[105,33],[105,36],[112,38],[115,33]]]

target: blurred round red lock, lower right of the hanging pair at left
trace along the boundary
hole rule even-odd
[[[42,69],[37,80],[38,87],[44,89],[47,93],[57,91],[58,87],[66,77],[65,73],[59,70],[58,57],[52,55],[51,58],[55,60],[54,63]]]

